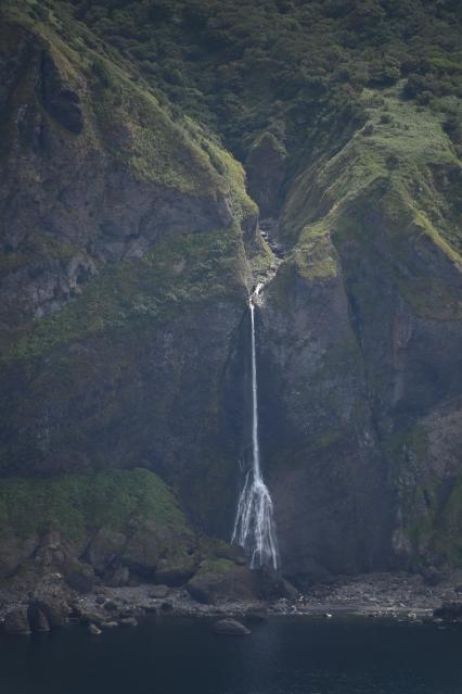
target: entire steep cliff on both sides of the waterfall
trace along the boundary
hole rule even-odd
[[[147,468],[229,539],[247,295],[274,256],[243,167],[69,16],[10,10],[1,28],[0,472],[27,478],[20,504],[50,484],[62,508],[75,497],[55,480]],[[367,124],[335,147],[291,160],[268,131],[243,157],[283,249],[257,314],[260,436],[300,585],[462,560],[459,150],[401,83],[360,100]],[[107,530],[86,513],[79,556]],[[62,517],[25,531],[1,499],[0,514],[22,559]]]

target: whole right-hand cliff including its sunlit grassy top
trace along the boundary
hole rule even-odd
[[[300,177],[280,236],[301,229],[261,315],[265,447],[299,579],[460,552],[461,171],[437,119],[426,140],[419,112],[386,100],[407,141],[390,165],[372,104],[370,126]]]

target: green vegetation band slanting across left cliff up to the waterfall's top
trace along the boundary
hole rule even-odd
[[[4,361],[37,357],[90,336],[175,320],[210,295],[242,302],[244,258],[239,227],[157,243],[140,260],[106,265],[62,311],[7,342]]]

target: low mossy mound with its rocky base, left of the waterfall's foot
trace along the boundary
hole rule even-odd
[[[185,557],[192,569],[180,583],[195,567],[195,533],[171,491],[149,470],[4,480],[0,517],[2,578],[59,571],[85,592],[90,566],[103,580],[121,565],[153,580],[156,569],[176,569],[178,577]]]

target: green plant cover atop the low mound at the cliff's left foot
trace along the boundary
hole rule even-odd
[[[145,469],[10,478],[0,487],[0,526],[20,537],[57,530],[78,542],[100,527],[132,532],[147,520],[179,535],[191,532],[171,491]]]

